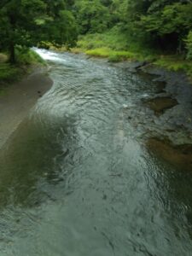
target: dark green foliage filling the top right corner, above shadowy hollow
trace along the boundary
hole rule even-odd
[[[152,47],[183,54],[183,38],[192,28],[191,2],[130,0],[126,13],[125,22],[132,37]]]

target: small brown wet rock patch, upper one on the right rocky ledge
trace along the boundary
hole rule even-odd
[[[152,110],[154,110],[154,113],[160,114],[160,113],[164,113],[166,109],[176,106],[177,100],[172,99],[172,97],[168,97],[168,96],[156,97],[146,102],[146,105]]]

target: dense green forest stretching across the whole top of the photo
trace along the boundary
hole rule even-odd
[[[149,49],[192,59],[192,2],[189,0],[3,0],[0,3],[0,50],[67,45],[89,35],[110,34],[112,49]],[[113,40],[119,37],[118,40]],[[105,36],[102,36],[104,39]],[[113,42],[114,41],[114,42]],[[111,42],[111,45],[110,45]],[[88,44],[90,43],[90,44]],[[95,40],[96,43],[96,40]],[[97,42],[98,43],[98,42]],[[134,46],[133,46],[134,45]],[[82,45],[80,45],[82,46]],[[137,47],[136,47],[137,46]],[[127,55],[129,57],[129,55]]]

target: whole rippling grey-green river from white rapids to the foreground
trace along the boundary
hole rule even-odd
[[[151,80],[39,52],[54,85],[1,153],[0,255],[192,255],[192,174],[129,119]]]

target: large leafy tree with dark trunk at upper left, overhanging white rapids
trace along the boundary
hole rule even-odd
[[[15,46],[37,46],[39,42],[67,44],[77,38],[73,15],[64,0],[1,0],[0,49],[9,51],[15,63]]]

